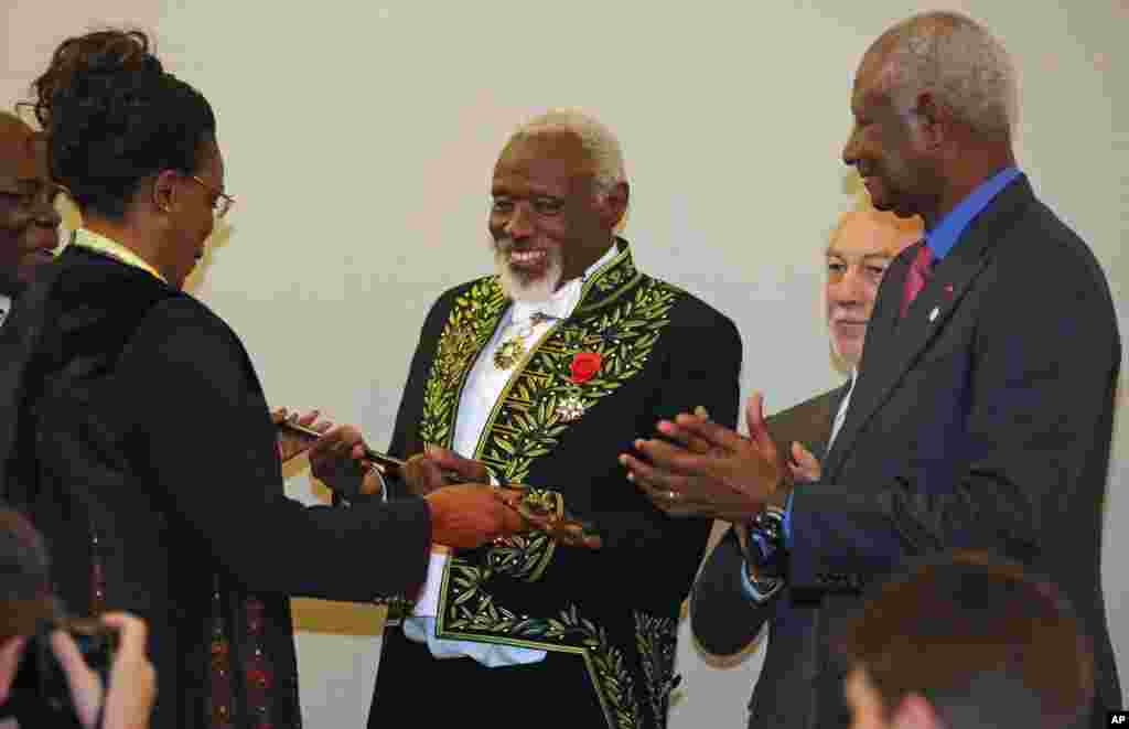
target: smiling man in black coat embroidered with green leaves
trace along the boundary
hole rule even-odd
[[[614,235],[622,155],[596,121],[558,111],[522,126],[492,199],[498,274],[428,314],[391,451],[412,456],[403,489],[441,483],[440,466],[525,484],[592,524],[599,546],[534,533],[432,552],[403,627],[385,632],[369,726],[525,727],[551,712],[559,726],[663,727],[709,522],[671,519],[624,488],[616,456],[685,409],[733,425],[741,341],[728,318],[636,269]],[[421,706],[425,684],[435,701]]]

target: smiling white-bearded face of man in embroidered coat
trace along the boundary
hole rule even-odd
[[[601,195],[594,183],[590,156],[570,131],[519,134],[506,146],[495,167],[489,228],[509,296],[546,299],[607,251],[627,185]]]

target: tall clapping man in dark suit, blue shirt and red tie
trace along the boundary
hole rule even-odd
[[[751,727],[844,726],[833,636],[859,588],[952,548],[1058,582],[1094,641],[1093,715],[1121,702],[1099,559],[1121,341],[1092,252],[1015,166],[1015,104],[1003,46],[959,14],[909,18],[864,55],[843,161],[927,232],[883,279],[815,483],[791,488],[760,396],[751,438],[683,414],[659,432],[684,447],[625,456],[648,489],[743,495],[752,566],[787,585],[734,618],[773,615]]]

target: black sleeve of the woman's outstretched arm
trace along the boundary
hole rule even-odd
[[[283,495],[274,427],[250,360],[195,301],[155,307],[117,372],[139,480],[248,589],[362,601],[422,581],[423,500],[335,509]]]

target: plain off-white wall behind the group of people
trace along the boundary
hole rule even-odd
[[[1015,56],[1021,164],[1094,248],[1124,332],[1129,7],[1126,0],[1066,5],[949,7],[987,23]],[[194,290],[242,334],[273,403],[320,406],[360,423],[383,446],[427,307],[445,288],[489,271],[488,181],[500,146],[519,120],[551,105],[583,106],[620,134],[633,193],[627,235],[637,258],[737,322],[745,395],[762,388],[769,410],[778,410],[837,383],[820,319],[820,252],[835,216],[852,203],[839,161],[851,77],[874,36],[931,6],[3,0],[0,7],[8,23],[0,69],[6,105],[24,98],[67,35],[123,23],[156,34],[170,69],[215,106],[227,186],[238,199],[229,235],[210,252]],[[1103,569],[1123,675],[1124,410]],[[318,498],[300,473],[289,485],[296,495]],[[358,555],[353,563],[378,570],[394,559]],[[296,603],[308,726],[361,726],[379,653],[378,612]],[[685,625],[682,638],[684,679],[672,727],[744,726],[761,655],[718,667],[725,661],[703,657]]]

